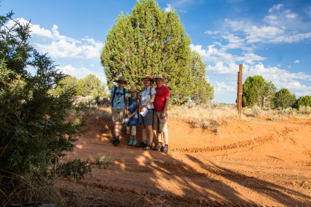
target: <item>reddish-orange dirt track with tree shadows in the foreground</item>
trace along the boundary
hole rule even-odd
[[[93,118],[68,158],[115,159],[82,181],[104,206],[311,206],[310,126],[296,119],[231,121],[215,135],[169,119],[164,154],[129,147],[124,134],[113,146],[111,120]]]

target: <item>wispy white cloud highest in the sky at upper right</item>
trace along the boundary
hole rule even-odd
[[[310,22],[284,7],[283,4],[273,6],[261,22],[224,19],[221,32],[207,30],[205,34],[213,35],[214,38],[219,35],[227,41],[222,46],[224,50],[242,49],[249,52],[265,43],[296,43],[310,39]],[[311,8],[309,10],[311,12]]]

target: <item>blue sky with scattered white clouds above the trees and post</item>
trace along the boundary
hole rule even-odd
[[[176,10],[191,49],[206,64],[207,80],[216,102],[234,103],[238,65],[243,81],[262,75],[277,90],[296,97],[311,95],[311,1],[171,0],[157,1]],[[95,74],[106,81],[100,52],[106,34],[121,12],[131,13],[130,0],[2,0],[1,14],[10,10],[30,21],[30,43],[52,57],[59,69],[77,77]]]

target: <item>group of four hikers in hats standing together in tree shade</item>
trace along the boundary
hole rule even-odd
[[[131,134],[129,146],[143,148],[143,150],[169,151],[169,132],[167,129],[167,108],[169,106],[169,88],[164,86],[162,75],[152,78],[142,78],[144,88],[137,95],[135,86],[128,91],[124,88],[127,83],[124,77],[117,79],[117,87],[111,89],[111,111],[114,124],[115,139],[113,145],[120,144],[122,125],[126,125],[126,134]],[[153,83],[156,82],[156,88]],[[129,92],[131,96],[129,97]],[[126,121],[124,121],[124,118]],[[136,128],[142,126],[142,141],[136,143]],[[158,145],[152,148],[153,130],[156,130]],[[162,145],[162,134],[165,145]],[[148,138],[148,142],[147,142]]]

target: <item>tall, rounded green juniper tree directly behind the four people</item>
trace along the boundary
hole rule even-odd
[[[194,81],[191,75],[190,42],[174,10],[164,12],[154,0],[138,1],[131,14],[120,14],[106,36],[101,61],[109,90],[119,76],[140,90],[142,77],[161,74],[173,103],[189,100],[198,84],[211,91],[205,79]],[[203,99],[210,100],[213,92],[207,95]]]

